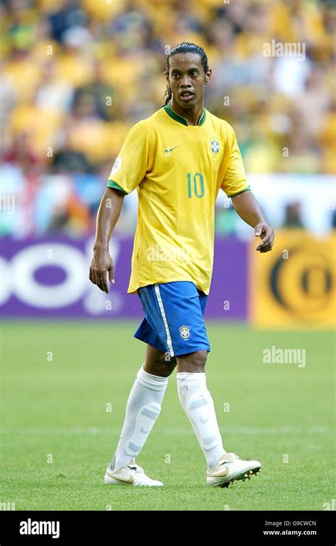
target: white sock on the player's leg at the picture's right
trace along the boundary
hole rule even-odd
[[[206,457],[208,469],[212,470],[226,451],[218,428],[213,399],[206,386],[206,374],[178,372],[177,392]]]

